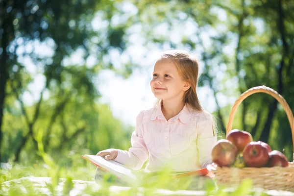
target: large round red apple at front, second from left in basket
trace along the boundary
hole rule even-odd
[[[250,142],[243,150],[243,158],[247,167],[264,167],[270,158],[269,150],[258,142]]]

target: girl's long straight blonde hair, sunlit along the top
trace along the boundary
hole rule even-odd
[[[170,49],[160,55],[161,59],[171,59],[176,65],[177,71],[184,81],[190,83],[191,87],[184,94],[184,102],[197,111],[203,111],[197,96],[198,83],[198,61],[187,51]]]

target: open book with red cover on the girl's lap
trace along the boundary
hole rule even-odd
[[[84,159],[90,161],[94,165],[98,166],[102,170],[111,172],[116,175],[118,178],[129,184],[137,184],[142,181],[143,178],[152,177],[158,175],[160,172],[142,172],[135,171],[129,168],[126,168],[123,164],[120,164],[113,160],[105,160],[103,157],[96,155],[85,154],[82,156]],[[172,172],[169,173],[171,178],[182,177],[186,175],[209,175],[209,171],[204,168],[201,170],[191,171],[191,172]]]

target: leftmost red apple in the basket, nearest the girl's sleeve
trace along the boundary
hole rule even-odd
[[[220,167],[230,166],[235,162],[238,153],[237,147],[228,140],[219,140],[212,148],[212,161]]]

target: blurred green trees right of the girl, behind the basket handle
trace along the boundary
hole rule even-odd
[[[236,99],[254,86],[275,89],[294,108],[293,0],[133,2],[140,13],[138,23],[149,37],[147,43],[200,54],[204,70],[199,84],[213,92],[222,131],[230,110],[220,102]],[[160,27],[170,32],[154,30]],[[178,37],[173,39],[173,34]],[[261,94],[243,101],[233,127],[251,132],[255,140],[269,142],[274,149],[286,147],[290,157],[293,144],[287,122],[277,101]]]

